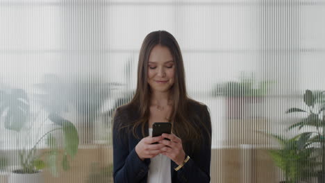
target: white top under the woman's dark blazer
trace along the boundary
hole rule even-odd
[[[152,128],[149,128],[149,135],[152,136]],[[156,155],[150,158],[148,183],[171,183],[172,177],[170,175],[170,159],[165,155]]]

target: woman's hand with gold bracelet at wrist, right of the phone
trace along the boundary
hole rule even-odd
[[[183,150],[182,140],[178,138],[175,134],[162,134],[163,137],[170,139],[158,141],[159,143],[165,144],[165,147],[161,148],[163,153],[162,155],[166,155],[170,159],[172,159],[177,165],[183,163],[185,159],[185,152]]]

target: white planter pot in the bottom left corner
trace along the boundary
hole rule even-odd
[[[10,173],[8,183],[44,183],[44,173]]]

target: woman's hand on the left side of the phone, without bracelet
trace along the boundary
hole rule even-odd
[[[156,143],[156,144],[151,144],[155,143],[157,141],[163,140],[164,137],[161,135],[158,137],[145,137],[139,141],[137,146],[135,146],[135,152],[138,154],[138,157],[143,161],[146,158],[153,158],[156,155],[159,155],[162,153],[160,150],[161,148],[165,147],[165,144],[163,143]]]

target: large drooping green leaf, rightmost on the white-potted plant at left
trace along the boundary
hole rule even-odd
[[[78,131],[73,123],[63,119],[63,117],[58,116],[58,114],[50,114],[49,119],[63,127],[63,136],[65,139],[65,152],[67,152],[70,157],[74,158],[78,151],[79,137]]]

